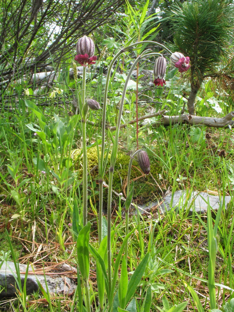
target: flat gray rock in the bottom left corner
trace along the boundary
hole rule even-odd
[[[20,264],[20,278],[21,278],[21,285],[23,288],[25,274],[23,272],[26,271],[27,266],[25,264]],[[32,272],[32,267],[29,266],[29,271]],[[9,298],[16,296],[16,288],[17,286],[15,277],[17,276],[15,266],[13,262],[7,261],[4,262],[1,269],[0,269],[0,299],[2,298]],[[46,283],[44,275],[36,275],[37,279],[41,283],[42,287],[46,291]],[[27,295],[32,294],[34,291],[36,292],[39,289],[37,284],[35,274],[29,273],[27,276],[26,282],[26,292]],[[63,294],[70,294],[76,289],[76,285],[69,277],[62,277],[60,276],[53,276],[50,277],[46,275],[46,282],[48,285],[49,293],[63,293]],[[18,286],[17,286],[18,288]],[[2,290],[2,291],[1,291]]]

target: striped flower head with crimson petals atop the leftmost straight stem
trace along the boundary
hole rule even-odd
[[[86,64],[95,64],[97,56],[94,56],[94,42],[90,37],[81,37],[76,45],[75,61],[80,63],[82,66],[87,66]]]

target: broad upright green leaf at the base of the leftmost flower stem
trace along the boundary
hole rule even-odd
[[[80,273],[85,281],[89,278],[90,258],[89,258],[89,240],[91,223],[88,222],[79,232],[77,246],[77,260]]]

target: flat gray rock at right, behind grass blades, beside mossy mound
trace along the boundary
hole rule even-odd
[[[227,204],[230,201],[231,196],[225,196],[220,199],[219,196],[210,195],[205,192],[178,190],[174,194],[170,193],[166,195],[160,202],[151,203],[151,205],[144,207],[144,209],[150,211],[151,208],[158,206],[162,213],[171,209],[178,211],[189,209],[189,215],[193,214],[194,210],[199,214],[203,214],[207,212],[208,202],[213,210],[217,210],[220,203],[224,204],[225,208],[227,208]]]

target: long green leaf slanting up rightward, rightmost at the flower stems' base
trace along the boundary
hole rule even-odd
[[[147,266],[148,260],[149,260],[149,251],[144,256],[142,261],[139,263],[139,265],[137,266],[136,270],[134,271],[131,279],[129,280],[127,295],[126,295],[126,298],[125,298],[125,306],[128,304],[128,302],[130,301],[130,299],[134,295],[135,290],[136,290],[137,286],[139,285],[139,283],[140,283],[140,281],[142,279],[142,276],[144,274],[144,271],[145,271],[145,268]]]

